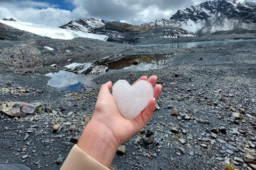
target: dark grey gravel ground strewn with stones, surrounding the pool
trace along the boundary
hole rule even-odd
[[[175,49],[45,38],[4,40],[0,47],[0,164],[58,169],[90,121],[101,84],[155,74],[163,86],[156,111],[123,144],[113,167],[256,169],[255,46]],[[91,91],[58,91],[44,76],[109,55],[163,53],[170,54],[163,69],[105,74]]]

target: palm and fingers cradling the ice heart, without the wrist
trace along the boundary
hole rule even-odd
[[[139,80],[147,80],[154,86],[157,77],[151,76],[147,79],[146,76],[143,76],[137,81]],[[129,140],[133,134],[140,131],[149,121],[155,109],[155,98],[157,98],[161,92],[161,85],[154,87],[154,97],[148,101],[147,107],[132,120],[125,119],[121,113],[119,113],[115,99],[109,92],[111,88],[112,83],[110,81],[103,84],[101,87],[91,121],[97,122],[98,125],[101,124],[105,126],[105,128],[113,134],[113,137],[111,137],[112,142],[119,146],[126,140]]]

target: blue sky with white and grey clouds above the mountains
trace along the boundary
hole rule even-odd
[[[60,26],[97,18],[141,24],[169,19],[177,10],[206,0],[0,0],[0,19]]]

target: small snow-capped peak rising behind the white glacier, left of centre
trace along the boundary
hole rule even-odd
[[[95,20],[94,18],[80,19],[78,21],[70,21],[69,23],[60,26],[63,29],[71,29],[75,31],[91,32],[91,29],[104,27],[104,20]]]

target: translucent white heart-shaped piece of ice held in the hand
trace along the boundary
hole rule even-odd
[[[126,119],[136,117],[154,95],[152,85],[146,80],[140,80],[133,86],[126,80],[118,80],[112,89],[118,110]]]

